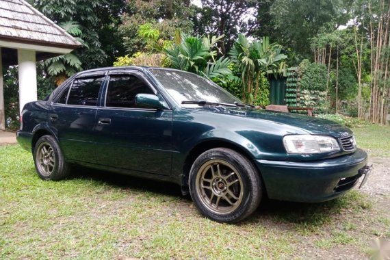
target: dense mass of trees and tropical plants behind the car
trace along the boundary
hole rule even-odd
[[[243,101],[263,105],[268,102],[263,80],[268,71],[284,63],[296,67],[307,59],[326,68],[327,112],[389,123],[387,0],[27,1],[84,43],[38,65],[40,96],[81,68],[115,62],[193,71]],[[263,47],[267,41],[270,51]],[[288,60],[275,60],[274,51]],[[7,83],[16,82],[14,73],[8,76]],[[17,89],[8,90],[17,96]]]

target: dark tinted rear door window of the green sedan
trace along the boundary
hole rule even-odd
[[[66,104],[96,106],[103,80],[103,77],[75,79]]]

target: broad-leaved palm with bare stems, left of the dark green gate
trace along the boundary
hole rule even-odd
[[[277,72],[283,60],[287,59],[287,55],[281,54],[281,49],[277,43],[270,44],[268,37],[250,42],[244,34],[239,34],[229,55],[241,71],[244,102],[253,103],[257,100],[261,75],[269,70]]]

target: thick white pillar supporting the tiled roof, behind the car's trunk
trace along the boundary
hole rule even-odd
[[[19,111],[26,103],[36,101],[36,56],[35,51],[18,49]]]

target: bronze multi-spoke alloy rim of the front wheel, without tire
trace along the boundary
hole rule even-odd
[[[196,192],[209,211],[228,214],[241,205],[244,185],[241,175],[229,162],[211,159],[196,174]]]

